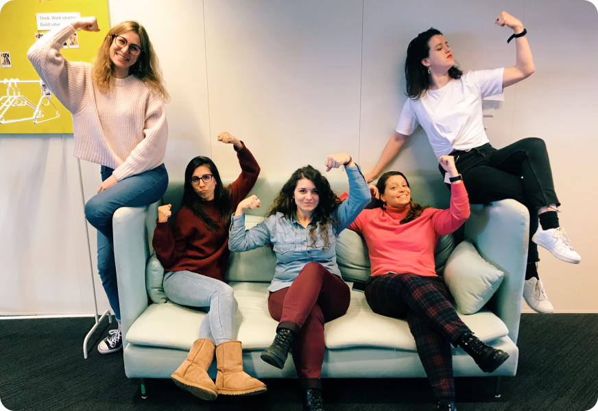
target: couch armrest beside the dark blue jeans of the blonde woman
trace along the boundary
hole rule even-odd
[[[129,327],[148,305],[145,264],[150,257],[154,232],[153,229],[151,233],[149,231],[156,219],[157,206],[158,203],[119,208],[112,219],[123,341],[126,341]]]

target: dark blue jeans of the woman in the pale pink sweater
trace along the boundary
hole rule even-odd
[[[101,181],[112,175],[113,169],[101,166]],[[97,229],[97,271],[108,302],[121,321],[117,267],[115,264],[112,216],[121,207],[141,207],[158,201],[166,192],[168,173],[164,164],[141,174],[122,179],[114,186],[93,196],[85,204],[87,221]],[[141,241],[141,239],[140,239]]]

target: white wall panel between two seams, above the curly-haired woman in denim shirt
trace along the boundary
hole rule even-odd
[[[213,134],[242,138],[263,175],[359,153],[359,0],[205,1]],[[239,172],[213,144],[224,175]]]

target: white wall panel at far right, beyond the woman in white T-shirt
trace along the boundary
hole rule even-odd
[[[555,310],[598,311],[597,21],[598,11],[589,1],[525,2],[536,73],[518,84],[513,139],[536,136],[547,143],[562,203],[560,223],[582,256],[581,264],[573,265],[540,249],[538,271]]]

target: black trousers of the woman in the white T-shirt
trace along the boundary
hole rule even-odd
[[[453,151],[471,204],[514,199],[529,210],[527,263],[538,262],[538,246],[531,241],[538,229],[538,209],[560,203],[554,191],[544,140],[524,138],[495,149],[487,143],[469,151]],[[438,167],[442,177],[446,173]],[[523,177],[523,178],[522,178]]]

